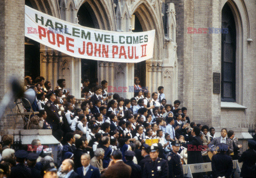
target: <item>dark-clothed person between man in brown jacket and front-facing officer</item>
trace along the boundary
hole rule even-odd
[[[125,151],[125,159],[126,164],[129,165],[132,168],[131,177],[132,178],[140,178],[141,177],[141,167],[135,163],[133,163],[133,157],[135,156],[135,153],[133,151]]]

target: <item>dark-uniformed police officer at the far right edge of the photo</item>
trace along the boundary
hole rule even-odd
[[[256,177],[253,173],[256,163],[256,151],[253,149],[256,146],[254,140],[248,140],[248,150],[242,153],[241,157],[238,158],[238,162],[243,161],[243,166],[241,168],[240,177]]]

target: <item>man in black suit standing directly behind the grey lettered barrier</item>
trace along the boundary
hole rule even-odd
[[[199,134],[199,127],[194,127],[191,131],[190,141],[187,143],[188,164],[203,163],[202,148],[203,142]],[[203,177],[202,173],[194,173],[193,177]]]

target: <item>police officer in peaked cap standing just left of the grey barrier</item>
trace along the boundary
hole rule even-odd
[[[169,178],[183,177],[183,169],[180,161],[178,151],[180,150],[180,143],[178,140],[172,142],[172,150],[167,156],[169,167]]]

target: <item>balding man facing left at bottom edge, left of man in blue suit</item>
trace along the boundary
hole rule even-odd
[[[61,165],[61,172],[65,173],[65,178],[79,178],[80,176],[74,172],[74,161],[72,159],[65,159]]]

